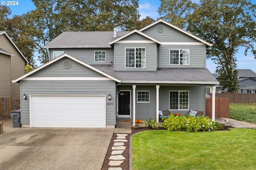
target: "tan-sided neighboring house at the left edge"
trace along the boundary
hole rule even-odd
[[[28,63],[5,31],[0,31],[0,98],[20,98],[20,85],[12,80],[25,74]]]

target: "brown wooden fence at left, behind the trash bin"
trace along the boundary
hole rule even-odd
[[[12,110],[20,109],[20,98],[0,98],[0,116],[11,117]]]

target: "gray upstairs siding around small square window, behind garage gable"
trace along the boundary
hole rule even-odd
[[[114,61],[114,49],[113,48],[66,48],[66,49],[49,49],[50,60],[52,60],[53,51],[64,51],[75,57],[84,63],[94,64],[113,64]],[[106,62],[94,62],[94,51],[106,51]]]

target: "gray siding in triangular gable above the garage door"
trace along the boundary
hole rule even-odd
[[[71,67],[63,68],[64,61],[70,61]],[[38,70],[29,77],[106,77],[102,74],[80,64],[76,61],[64,57],[41,70]]]

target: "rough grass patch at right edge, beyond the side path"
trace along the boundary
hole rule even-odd
[[[229,117],[239,121],[256,123],[256,103],[230,104]]]

